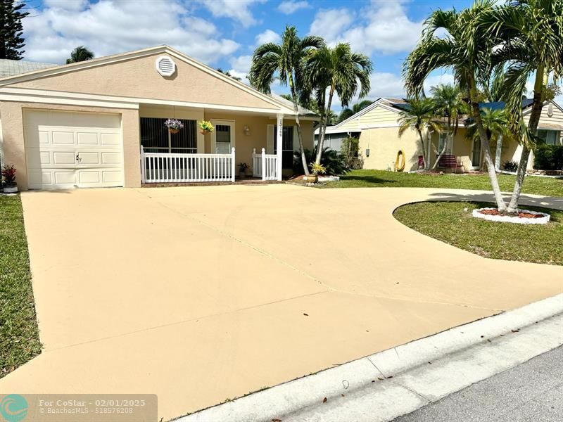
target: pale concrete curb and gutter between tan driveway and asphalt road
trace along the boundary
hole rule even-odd
[[[521,330],[539,321],[544,321],[552,316],[563,313],[563,293],[552,298],[540,300],[530,305],[526,305],[519,309],[503,312],[495,316],[490,316],[479,321],[474,321],[463,326],[450,328],[436,335],[412,341],[405,345],[394,347],[393,349],[384,350],[367,357],[342,364],[335,368],[327,369],[310,376],[298,378],[284,384],[280,384],[255,392],[251,395],[241,397],[232,402],[210,407],[194,414],[179,418],[182,422],[214,422],[214,421],[268,421],[278,418],[286,421],[291,414],[296,414],[306,408],[312,408],[322,404],[325,397],[327,402],[341,402],[339,406],[346,408],[346,404],[342,403],[343,395],[353,397],[355,392],[373,386],[374,382],[383,381],[393,378],[398,381],[398,376],[405,378],[408,383],[417,383],[417,371],[421,368],[426,371],[425,367],[430,366],[430,362],[436,362],[438,359],[445,359],[452,354],[463,354],[464,351],[472,347],[485,347],[488,341],[493,338],[501,338],[502,336],[513,333],[513,330]],[[558,326],[558,329],[560,326]],[[483,344],[484,343],[484,344]],[[541,348],[534,351],[537,354],[550,350],[563,343],[562,338],[555,338],[549,344],[541,345]],[[514,345],[510,345],[514,347]],[[547,350],[546,350],[547,348]],[[532,351],[527,351],[521,359],[531,359]],[[467,354],[467,353],[466,353]],[[468,357],[470,359],[473,353],[469,350]],[[532,355],[530,355],[532,354]],[[526,358],[527,357],[527,358]],[[514,359],[514,364],[525,362],[525,360]],[[492,359],[494,360],[494,359]],[[488,357],[491,361],[491,357]],[[437,362],[436,362],[437,363]],[[450,365],[446,362],[443,366]],[[439,366],[439,365],[436,365]],[[450,365],[451,366],[451,365]],[[514,365],[512,365],[514,366]],[[509,366],[510,367],[510,366]],[[438,369],[438,368],[436,368]],[[497,370],[498,369],[498,370]],[[489,368],[483,371],[484,378],[507,369],[504,366],[498,368]],[[408,373],[408,372],[412,373]],[[449,371],[452,371],[450,368]],[[491,373],[491,371],[496,371]],[[443,374],[441,375],[443,376]],[[413,378],[414,377],[414,378]],[[416,388],[402,385],[398,382],[380,383],[381,388],[377,391],[379,395],[378,402],[389,404],[389,409],[379,407],[378,416],[371,414],[371,421],[388,421],[391,418],[409,413],[419,407],[428,404],[431,401],[444,397],[484,378],[479,376],[467,376],[467,381],[454,383],[455,385],[442,388],[436,394],[432,392],[429,395],[422,395],[417,392]],[[467,383],[469,382],[469,383]],[[426,388],[428,390],[428,388]],[[373,395],[374,391],[369,392]],[[360,393],[358,393],[360,394]],[[356,394],[356,396],[358,396]],[[363,393],[362,393],[363,394]],[[362,395],[360,394],[360,395]],[[366,396],[366,394],[363,394]],[[364,400],[366,397],[360,397]],[[383,400],[383,401],[382,401]],[[369,404],[374,404],[374,398],[369,397]],[[351,416],[348,409],[348,416]],[[297,420],[317,420],[317,418],[305,418],[305,416]],[[322,419],[318,419],[322,420]],[[327,418],[329,420],[329,418]],[[334,419],[336,420],[336,419]],[[358,419],[360,420],[360,419]]]

